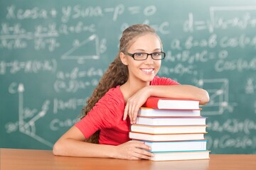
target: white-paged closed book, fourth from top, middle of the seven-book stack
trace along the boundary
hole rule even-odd
[[[131,125],[132,132],[148,134],[206,133],[207,125]]]

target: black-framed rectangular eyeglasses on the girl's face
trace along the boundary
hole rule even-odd
[[[124,52],[124,54],[133,57],[134,60],[146,60],[149,57],[149,55],[151,55],[153,60],[163,60],[165,57],[164,52],[153,52],[150,54],[146,52],[135,52],[134,54]]]

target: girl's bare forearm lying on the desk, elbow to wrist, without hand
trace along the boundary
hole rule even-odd
[[[97,145],[74,139],[62,139],[54,145],[53,154],[70,157],[113,158],[114,147],[112,145]]]

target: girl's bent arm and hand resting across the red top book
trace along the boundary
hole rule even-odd
[[[164,98],[191,98],[200,101],[200,105],[204,105],[209,101],[208,92],[191,85],[170,85],[170,86],[145,86],[137,91],[127,101],[124,109],[124,120],[127,115],[131,123],[136,123],[139,108],[146,102],[149,96],[157,96]]]

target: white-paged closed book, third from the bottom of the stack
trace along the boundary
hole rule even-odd
[[[181,140],[204,140],[203,133],[190,133],[190,134],[161,134],[152,135],[139,132],[129,132],[129,138],[134,140],[147,140],[147,141],[181,141]]]

